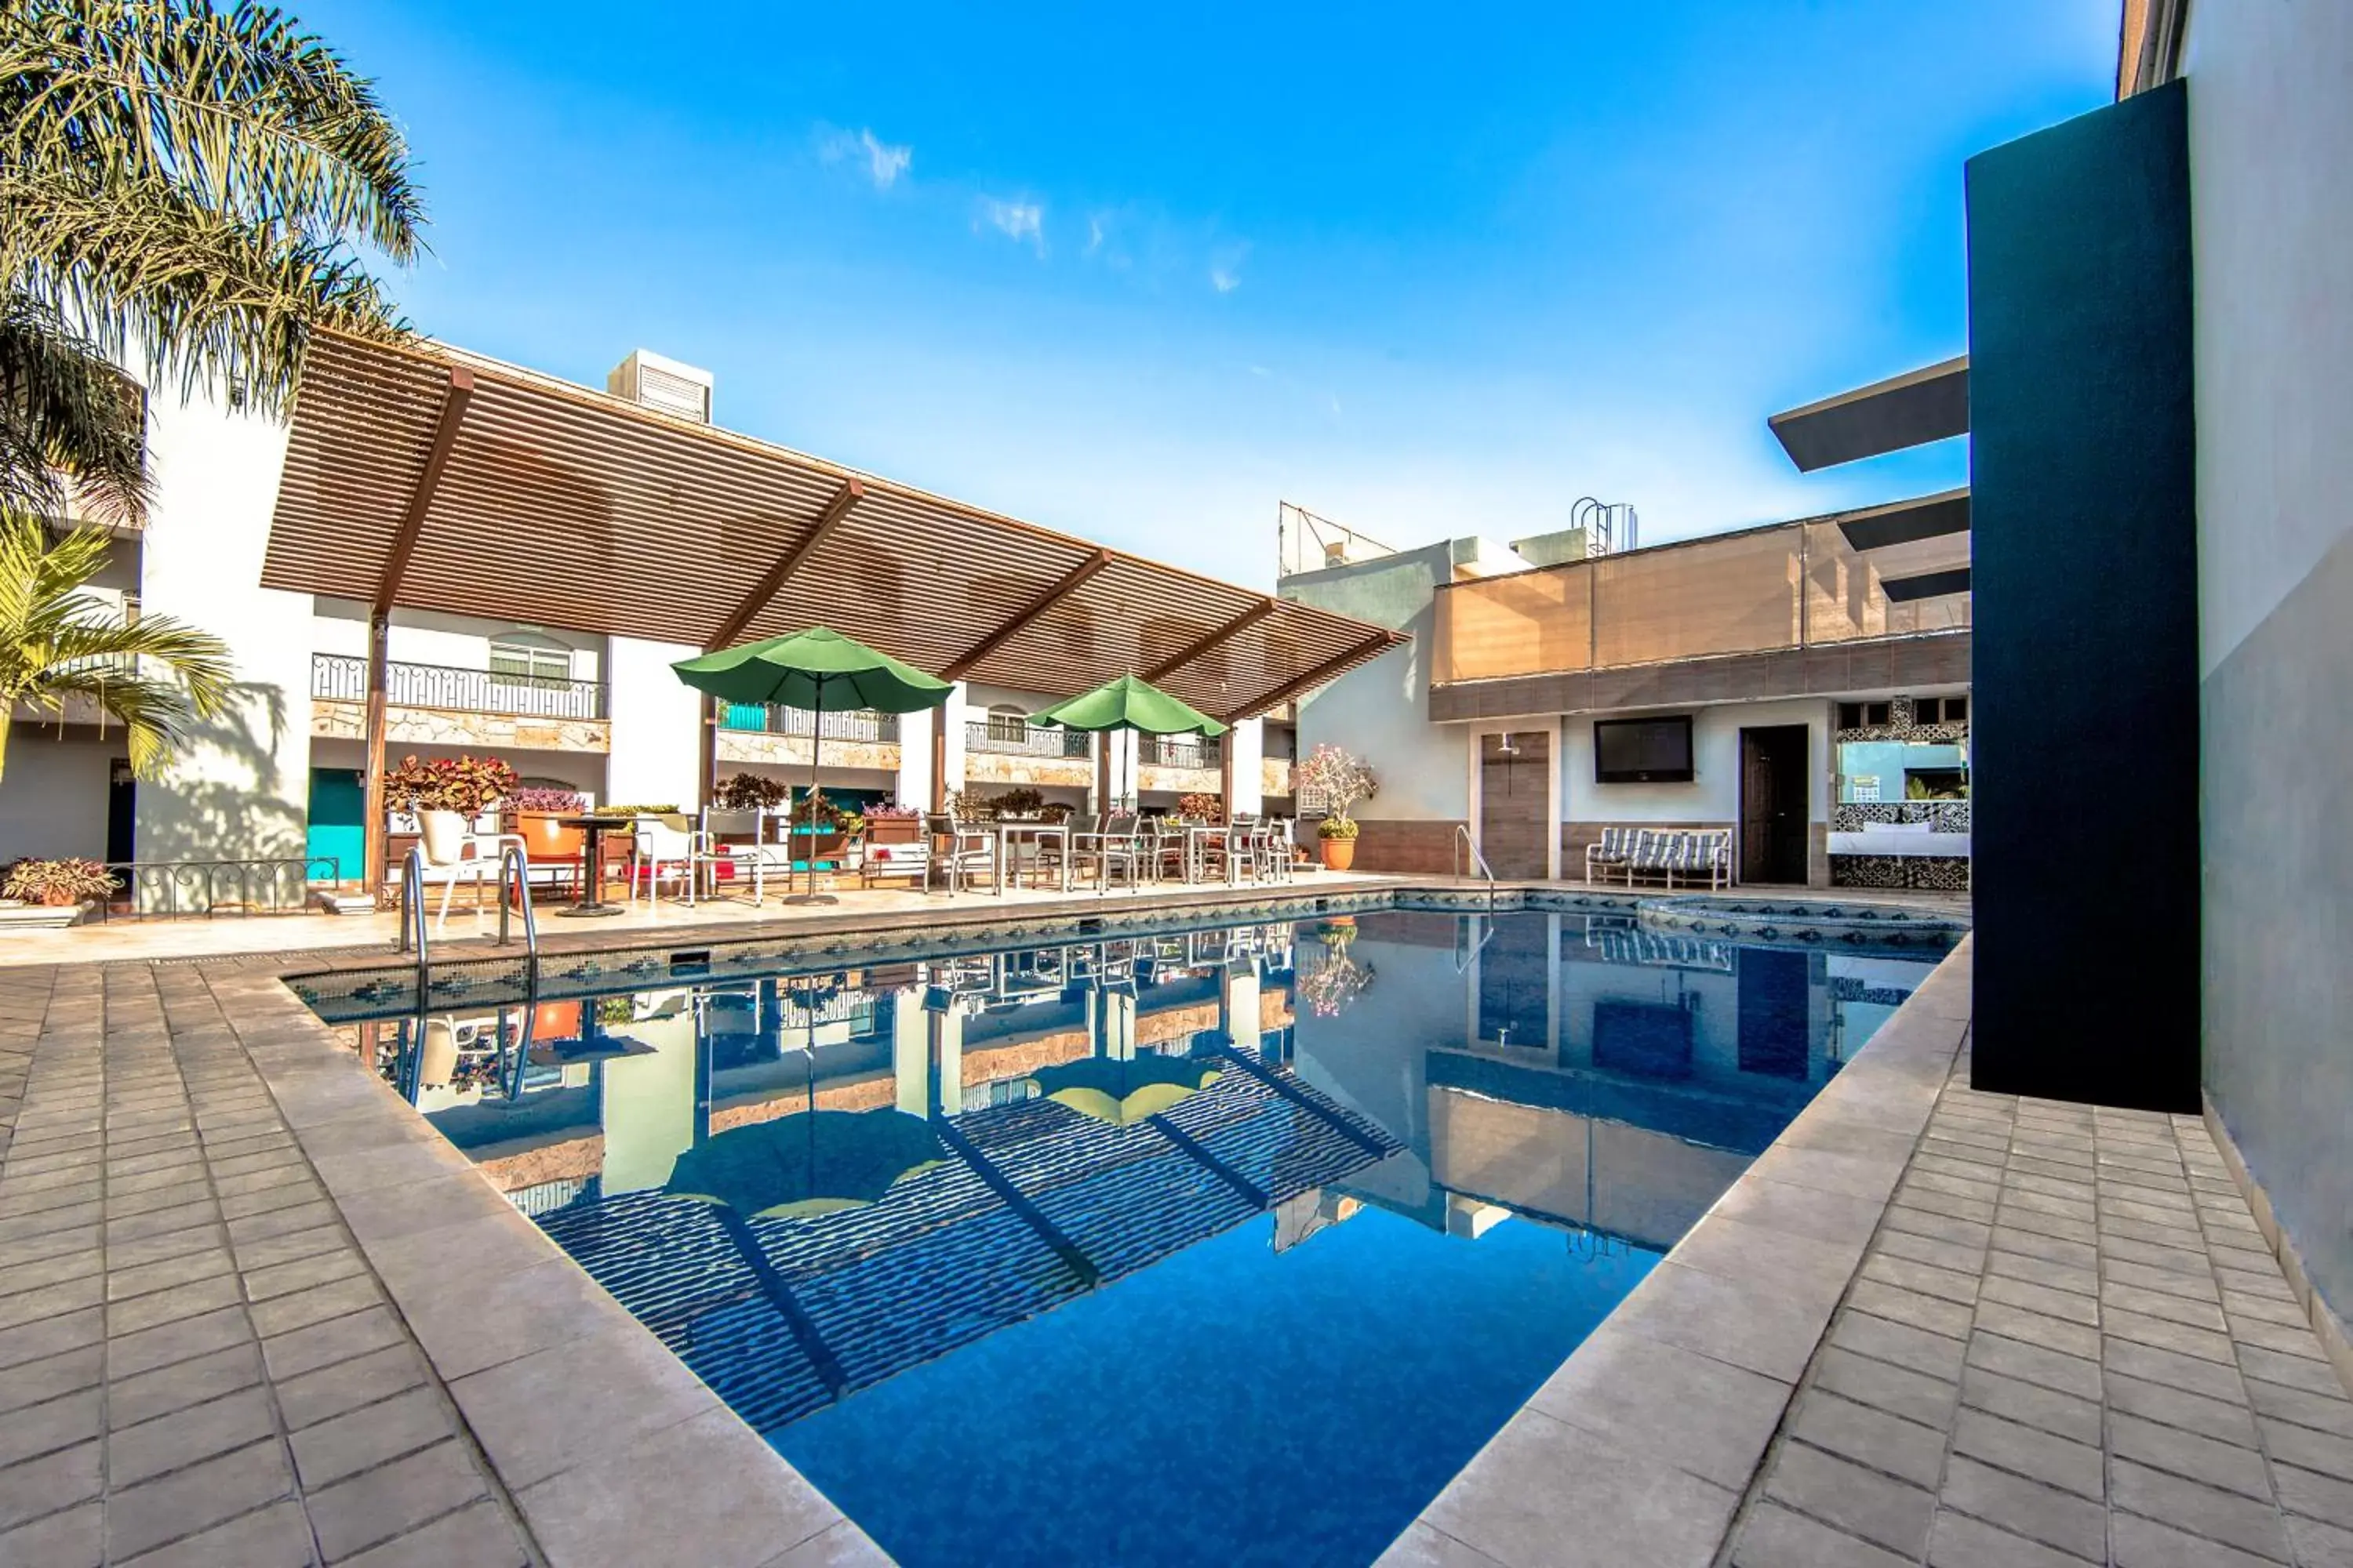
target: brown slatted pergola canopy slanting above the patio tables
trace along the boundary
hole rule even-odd
[[[395,607],[701,649],[824,623],[1047,696],[1134,672],[1226,722],[1407,642],[513,364],[339,334],[306,355],[261,583],[369,604],[369,820]]]

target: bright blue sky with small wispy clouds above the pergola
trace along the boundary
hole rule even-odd
[[[2108,101],[2118,0],[313,0],[409,129],[440,339],[1268,585],[1633,501],[1915,494],[1765,416],[1965,348],[1962,160]],[[675,19],[673,19],[675,16]]]

